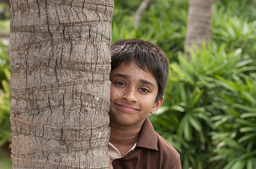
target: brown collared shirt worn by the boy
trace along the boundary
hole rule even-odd
[[[110,153],[110,149],[112,153]],[[123,157],[115,148],[109,145],[109,156],[112,158],[114,169],[180,169],[180,154],[163,137],[153,130],[153,126],[148,118],[142,124],[138,142]],[[120,155],[117,155],[117,154]]]

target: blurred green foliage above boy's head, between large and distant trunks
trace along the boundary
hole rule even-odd
[[[116,3],[112,22],[112,42],[120,39],[138,38],[160,46],[172,60],[177,51],[183,51],[186,35],[188,3],[185,0],[152,1],[143,12],[139,28],[134,28],[134,16],[138,3],[128,8],[126,3]],[[136,8],[134,8],[136,7]],[[172,10],[172,15],[170,15]],[[171,23],[171,24],[170,24]]]

